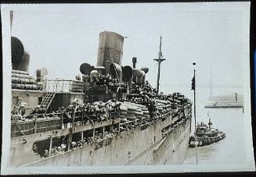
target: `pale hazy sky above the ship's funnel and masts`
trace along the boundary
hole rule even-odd
[[[246,2],[38,5],[13,13],[13,31],[31,55],[30,73],[45,67],[49,78],[74,79],[81,63],[96,65],[99,33],[110,30],[124,39],[123,64],[149,67],[157,83],[160,35],[166,61],[160,90],[190,90],[193,62],[197,84],[243,84],[243,60],[249,59],[249,10]]]

